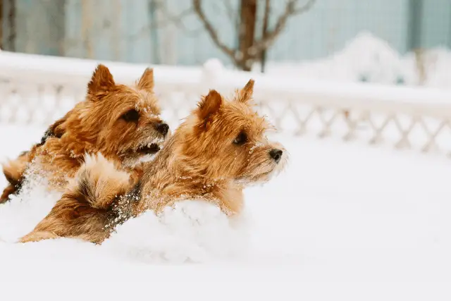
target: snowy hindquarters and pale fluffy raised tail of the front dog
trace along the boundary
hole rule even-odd
[[[20,242],[71,237],[101,243],[110,233],[113,204],[131,186],[130,175],[101,154],[85,156],[61,199]]]

